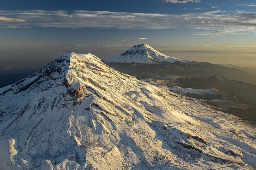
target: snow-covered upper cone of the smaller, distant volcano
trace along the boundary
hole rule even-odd
[[[156,51],[148,44],[134,45],[126,52],[113,58],[103,60],[104,63],[137,63],[137,64],[166,64],[174,62],[192,63],[191,61],[182,60],[166,56]]]

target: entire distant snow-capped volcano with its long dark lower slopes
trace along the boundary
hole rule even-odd
[[[169,57],[147,44],[133,46],[121,55],[103,62],[119,72],[134,75],[138,79],[155,75],[186,75],[195,78],[219,76],[256,84],[256,76],[241,69]]]

